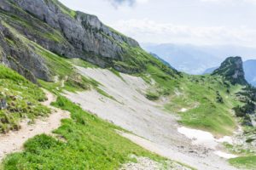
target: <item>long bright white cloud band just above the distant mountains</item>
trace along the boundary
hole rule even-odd
[[[175,26],[153,20],[119,20],[112,25],[117,30],[134,37],[139,42],[177,42],[197,44],[256,43],[256,30],[246,26]]]

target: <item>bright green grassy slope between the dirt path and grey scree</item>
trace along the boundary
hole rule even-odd
[[[162,158],[143,150],[115,132],[113,124],[83,111],[59,96],[53,104],[71,112],[72,119],[62,122],[55,133],[65,142],[44,134],[30,139],[25,150],[8,156],[4,169],[117,169],[130,155]]]

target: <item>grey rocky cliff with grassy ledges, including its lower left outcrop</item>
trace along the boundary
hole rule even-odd
[[[57,0],[1,0],[0,20],[0,59],[30,80],[51,79],[44,56],[34,50],[38,45],[126,73],[142,71],[148,63],[163,68],[135,40]]]

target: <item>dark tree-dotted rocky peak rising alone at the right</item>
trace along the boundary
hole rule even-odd
[[[243,71],[242,59],[238,56],[225,59],[220,67],[213,71],[212,75],[223,76],[232,84],[247,84]]]

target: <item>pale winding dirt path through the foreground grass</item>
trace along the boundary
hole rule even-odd
[[[38,134],[50,134],[54,129],[61,126],[61,119],[69,117],[69,112],[62,111],[50,105],[56,100],[55,95],[44,90],[47,100],[42,104],[52,110],[52,114],[43,119],[37,119],[34,124],[28,125],[27,122],[20,122],[21,129],[17,132],[0,135],[0,160],[9,153],[22,150],[23,144]]]

